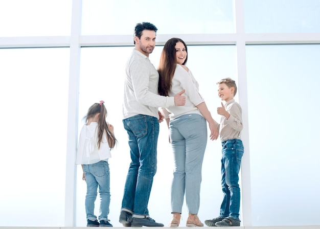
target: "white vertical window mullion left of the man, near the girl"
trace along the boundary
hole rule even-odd
[[[68,96],[67,148],[65,174],[64,226],[75,226],[76,217],[76,171],[75,155],[78,142],[78,104],[80,72],[80,35],[82,0],[74,0],[72,5],[72,25],[70,39],[70,75]]]

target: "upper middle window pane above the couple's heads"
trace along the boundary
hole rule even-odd
[[[149,21],[161,34],[234,33],[232,0],[83,0],[83,35],[133,34]]]

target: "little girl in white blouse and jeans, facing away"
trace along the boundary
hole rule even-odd
[[[82,166],[82,179],[86,181],[85,212],[87,226],[112,226],[108,220],[110,205],[110,172],[108,158],[117,140],[113,126],[106,122],[107,110],[104,101],[95,103],[88,109],[86,124],[79,137],[76,164]],[[100,193],[99,221],[94,214],[97,189]]]

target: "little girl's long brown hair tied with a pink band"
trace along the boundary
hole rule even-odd
[[[106,133],[107,141],[109,144],[109,147],[113,149],[117,143],[117,139],[115,135],[109,130],[109,127],[107,125],[107,122],[105,120],[107,115],[107,109],[105,108],[104,102],[101,101],[100,103],[95,103],[88,109],[88,113],[85,117],[86,123],[88,122],[89,118],[93,118],[97,113],[100,113],[99,120],[98,120],[98,127],[97,127],[97,133],[98,133],[98,149],[100,149],[100,144],[102,142],[103,133]]]

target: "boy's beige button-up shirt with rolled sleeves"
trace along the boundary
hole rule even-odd
[[[241,139],[242,109],[234,99],[224,104],[225,110],[230,113],[229,119],[221,116],[220,120],[220,139],[221,141],[230,139]]]

